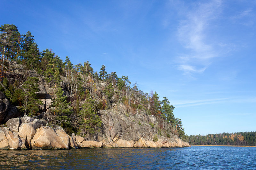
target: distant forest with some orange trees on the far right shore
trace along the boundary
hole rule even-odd
[[[256,145],[256,132],[220,133],[186,136],[190,145]]]

